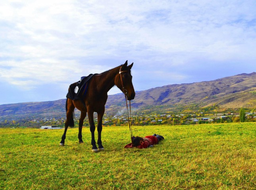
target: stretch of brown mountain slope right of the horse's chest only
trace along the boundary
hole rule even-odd
[[[123,94],[109,96],[108,111],[125,106]],[[175,108],[179,106],[210,106],[222,108],[256,107],[256,72],[239,74],[207,82],[173,84],[136,92],[133,108]],[[120,109],[121,109],[120,107]]]

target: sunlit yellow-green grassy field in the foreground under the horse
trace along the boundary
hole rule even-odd
[[[90,129],[0,129],[0,189],[256,189],[256,124],[133,126],[163,135],[147,149],[124,149],[129,127],[103,127],[93,153]]]

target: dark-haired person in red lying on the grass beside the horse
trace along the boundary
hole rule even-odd
[[[133,140],[131,143],[125,145],[125,148],[148,148],[152,147],[154,144],[157,144],[159,141],[163,140],[164,137],[161,135],[152,135],[152,136],[146,136],[144,138],[142,137],[133,137]]]

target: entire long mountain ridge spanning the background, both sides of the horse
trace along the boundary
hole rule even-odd
[[[212,81],[191,84],[173,84],[137,91],[131,101],[133,110],[143,112],[156,108],[177,111],[178,108],[195,108],[217,104],[220,108],[256,108],[256,72],[238,74]],[[122,93],[109,95],[107,114],[126,111]],[[0,120],[33,117],[65,117],[65,99],[48,102],[31,102],[0,105]]]

